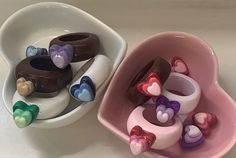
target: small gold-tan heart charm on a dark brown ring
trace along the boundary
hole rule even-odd
[[[26,97],[34,91],[34,84],[21,77],[16,81],[16,89],[21,96]]]

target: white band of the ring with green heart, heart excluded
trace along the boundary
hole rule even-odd
[[[70,95],[67,88],[62,89],[58,95],[50,98],[39,98],[34,95],[22,97],[17,91],[12,98],[12,105],[17,101],[23,101],[26,104],[36,104],[39,107],[37,119],[48,119],[57,116],[65,110],[70,102]]]

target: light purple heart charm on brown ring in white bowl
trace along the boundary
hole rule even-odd
[[[58,68],[65,68],[72,60],[73,47],[69,44],[64,46],[54,44],[49,48],[49,55]]]

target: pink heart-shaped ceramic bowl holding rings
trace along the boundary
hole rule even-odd
[[[178,56],[186,62],[191,77],[199,83],[202,90],[196,111],[214,113],[219,123],[206,139],[205,144],[199,148],[184,150],[177,143],[169,149],[151,150],[147,154],[151,157],[161,154],[167,157],[197,158],[199,154],[201,157],[212,157],[222,155],[229,150],[235,141],[236,128],[232,117],[236,114],[235,103],[218,86],[218,65],[212,49],[204,41],[186,33],[168,32],[153,36],[139,45],[122,62],[100,107],[98,113],[100,122],[128,142],[126,122],[135,106],[125,94],[135,74],[156,56],[161,56],[168,61]]]

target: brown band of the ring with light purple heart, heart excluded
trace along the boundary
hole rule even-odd
[[[51,40],[49,47],[54,44],[59,46],[71,45],[73,47],[72,62],[84,61],[96,56],[100,46],[97,35],[87,32],[58,36]]]

